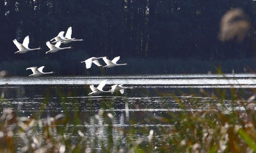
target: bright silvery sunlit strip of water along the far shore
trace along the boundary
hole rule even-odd
[[[120,75],[120,76],[43,76],[43,77],[4,77],[0,84],[100,84],[102,80],[107,84],[127,85],[256,85],[255,74],[162,74],[162,75]]]

